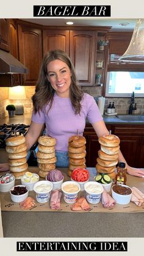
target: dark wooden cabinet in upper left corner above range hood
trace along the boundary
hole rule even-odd
[[[9,19],[0,19],[0,49],[10,51]]]

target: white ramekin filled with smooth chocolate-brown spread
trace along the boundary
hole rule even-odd
[[[120,205],[127,205],[131,201],[132,189],[126,185],[113,185],[112,197]]]

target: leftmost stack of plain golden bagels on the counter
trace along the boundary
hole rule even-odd
[[[23,135],[10,137],[6,139],[5,144],[5,150],[9,154],[10,172],[13,173],[16,180],[20,180],[28,168],[26,139]]]

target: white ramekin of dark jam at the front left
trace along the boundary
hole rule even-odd
[[[24,185],[13,186],[13,188],[10,189],[10,198],[15,203],[24,201],[28,197],[28,194],[29,189]]]

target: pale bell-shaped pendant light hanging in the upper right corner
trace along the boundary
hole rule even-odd
[[[144,62],[144,19],[137,20],[128,49],[118,60]]]

